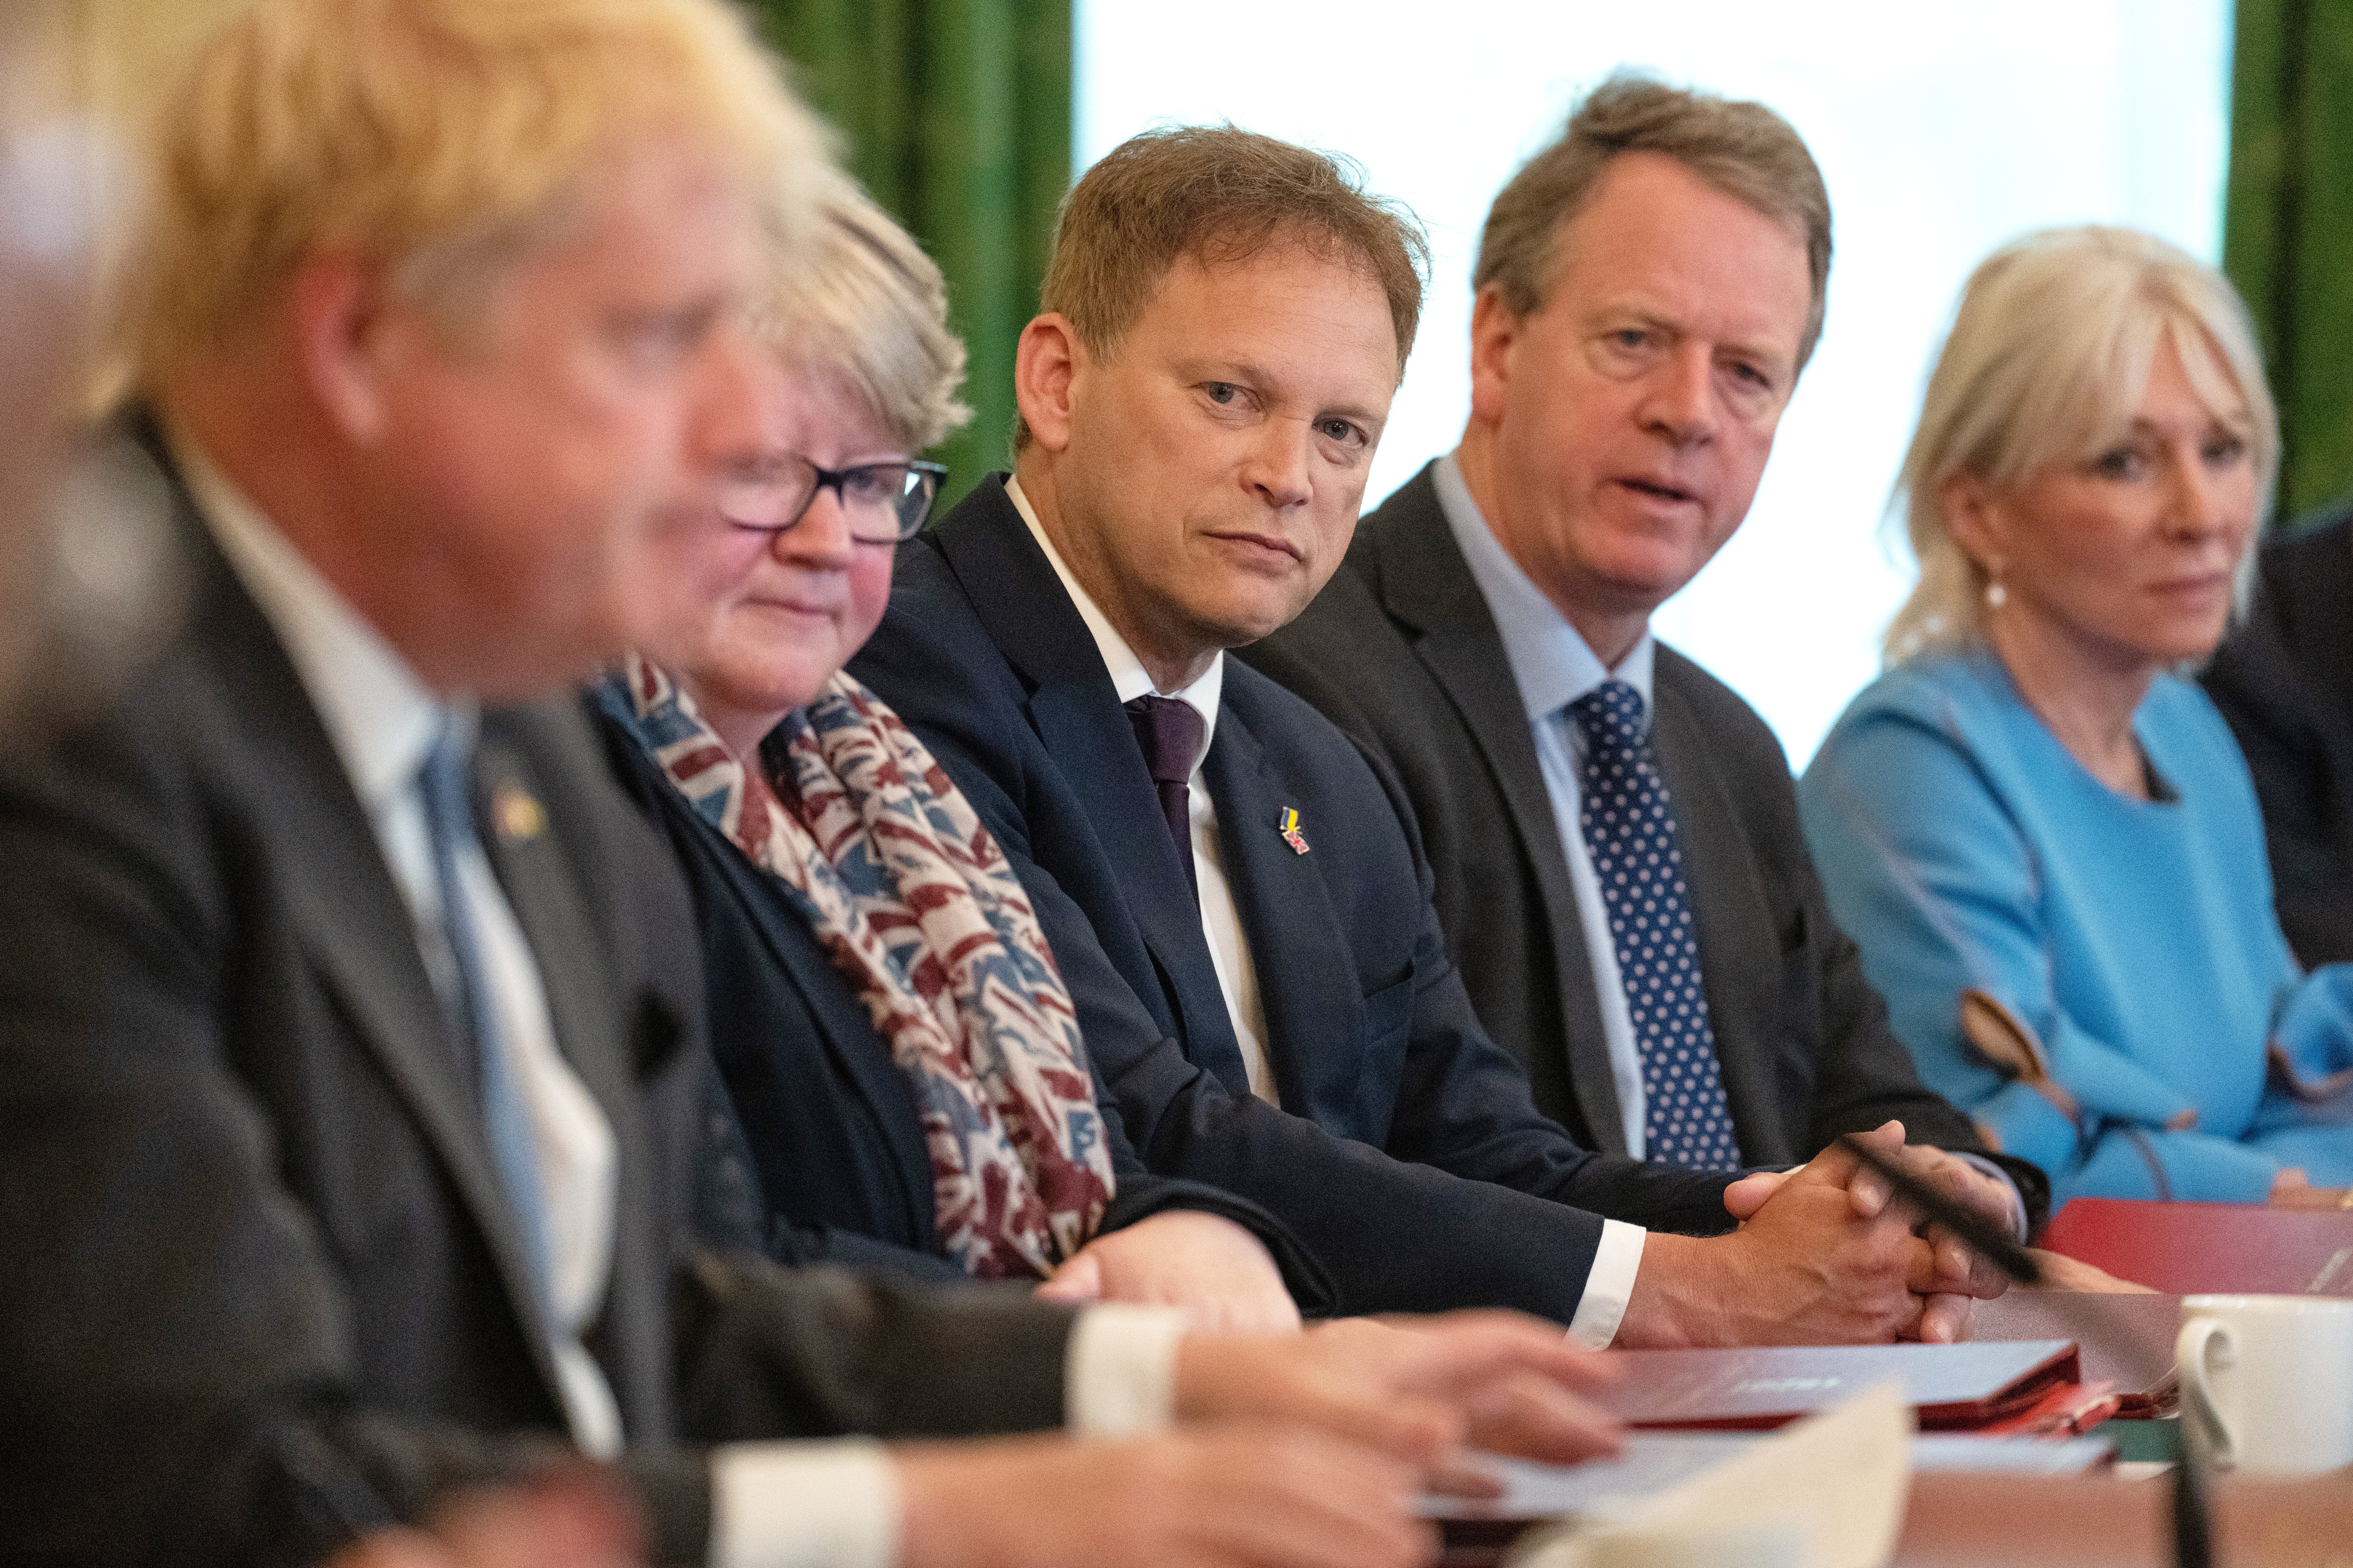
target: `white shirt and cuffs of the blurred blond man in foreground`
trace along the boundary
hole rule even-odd
[[[409,907],[426,971],[449,997],[459,983],[456,961],[440,922],[419,769],[445,724],[473,724],[471,705],[440,703],[202,451],[172,440],[172,456],[327,726]],[[581,1347],[612,1274],[619,1173],[612,1126],[555,1044],[539,964],[480,844],[459,849],[456,875],[473,905],[499,1034],[532,1117],[553,1253],[548,1328],[558,1392],[572,1441],[584,1453],[612,1458],[624,1443],[621,1413],[605,1373]],[[1082,1312],[1064,1363],[1071,1429],[1132,1434],[1167,1425],[1181,1338],[1184,1314],[1174,1309]],[[718,1448],[711,1490],[713,1568],[887,1568],[899,1556],[896,1472],[875,1441]]]

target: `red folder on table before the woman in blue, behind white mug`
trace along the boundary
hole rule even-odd
[[[2167,1295],[2353,1295],[2353,1211],[2075,1199],[2040,1246]]]

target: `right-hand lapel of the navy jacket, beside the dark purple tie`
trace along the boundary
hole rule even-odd
[[[1217,842],[1254,961],[1285,952],[1348,952],[1322,877],[1278,832],[1278,816],[1297,799],[1285,799],[1282,778],[1231,701],[1217,715],[1202,783],[1217,802]],[[1337,961],[1261,966],[1259,1004],[1282,1110],[1337,1131],[1367,1126],[1355,1103],[1362,1056],[1353,1041],[1365,1013],[1355,969]],[[1388,1110],[1381,1107],[1374,1121],[1386,1126]]]

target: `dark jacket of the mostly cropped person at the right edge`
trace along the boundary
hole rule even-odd
[[[2287,945],[2353,959],[2353,512],[2264,545],[2202,679],[2254,773]]]

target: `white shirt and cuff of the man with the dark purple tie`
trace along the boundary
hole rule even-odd
[[[1031,510],[1028,496],[1021,494],[1019,480],[1005,480],[1005,494],[1012,498],[1014,510],[1021,512],[1021,522],[1028,524],[1031,538],[1045,550],[1047,564],[1054,567],[1054,576],[1061,578],[1064,592],[1071,595],[1071,604],[1078,607],[1080,618],[1094,635],[1094,646],[1104,656],[1104,668],[1111,670],[1111,686],[1118,691],[1122,703],[1153,691],[1153,677],[1144,672],[1144,663],[1136,651],[1127,646],[1111,618],[1094,597],[1071,576],[1071,567],[1064,564],[1061,550],[1054,541],[1045,536],[1045,527],[1038,524],[1038,512]],[[1184,691],[1162,691],[1160,696],[1172,696],[1188,703],[1202,717],[1202,755],[1209,750],[1209,736],[1217,733],[1217,698],[1226,679],[1226,654],[1209,663],[1209,672]],[[1202,936],[1209,938],[1209,961],[1217,966],[1217,985],[1226,997],[1226,1016],[1233,1020],[1233,1037],[1242,1046],[1242,1067],[1249,1072],[1249,1091],[1266,1103],[1275,1100],[1273,1074],[1266,1065],[1266,1009],[1259,1004],[1259,971],[1249,957],[1249,943],[1242,940],[1242,919],[1233,905],[1233,889],[1226,882],[1224,851],[1217,842],[1217,806],[1209,799],[1209,790],[1200,778],[1200,762],[1193,764],[1193,865],[1200,875],[1200,926]],[[1591,877],[1591,870],[1588,870]],[[1600,884],[1595,884],[1595,898],[1600,898]],[[1607,924],[1602,926],[1607,931]],[[1614,959],[1612,959],[1614,961]],[[1624,1001],[1619,1001],[1624,1011]],[[1617,1338],[1619,1321],[1626,1316],[1626,1300],[1633,1295],[1633,1276],[1642,1267],[1642,1239],[1645,1229],[1640,1225],[1626,1225],[1624,1220],[1602,1220],[1600,1248],[1593,1253],[1593,1269],[1586,1274],[1586,1291],[1577,1298],[1577,1312],[1569,1316],[1569,1338],[1579,1345],[1591,1345],[1595,1349],[1609,1345]]]

